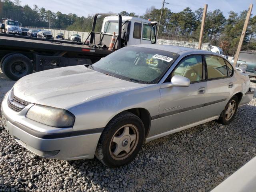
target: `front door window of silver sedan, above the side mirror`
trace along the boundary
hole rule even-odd
[[[190,79],[190,82],[201,81],[203,78],[202,56],[193,55],[184,58],[172,72],[172,77],[174,75],[184,76]]]

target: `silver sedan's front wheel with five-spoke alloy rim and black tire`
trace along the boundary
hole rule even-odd
[[[95,156],[106,166],[123,166],[135,158],[144,138],[145,128],[140,118],[130,112],[122,112],[112,118],[103,130]]]

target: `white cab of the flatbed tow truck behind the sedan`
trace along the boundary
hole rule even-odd
[[[118,19],[118,16],[105,17],[102,24],[102,34],[112,35],[115,32],[118,36]],[[142,18],[122,16],[122,44],[124,46],[155,44],[157,23]]]

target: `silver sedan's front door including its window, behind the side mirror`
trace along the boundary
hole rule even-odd
[[[183,58],[170,77],[184,76],[190,79],[188,87],[160,88],[160,108],[155,134],[160,134],[201,120],[206,100],[206,82],[202,55]]]

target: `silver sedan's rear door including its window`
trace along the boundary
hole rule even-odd
[[[224,58],[205,55],[206,61],[206,111],[204,118],[220,115],[234,92],[234,82]]]

